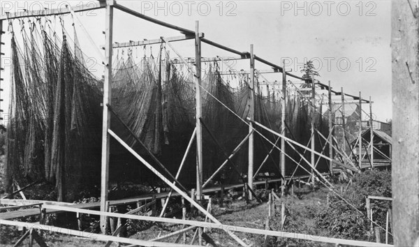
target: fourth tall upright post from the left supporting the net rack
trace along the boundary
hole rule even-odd
[[[285,135],[285,118],[286,118],[286,69],[285,59],[282,60],[282,98],[281,98],[281,134]],[[285,172],[286,172],[286,161],[285,161],[285,139],[281,138],[281,175],[283,177],[281,184],[281,196],[285,194]]]

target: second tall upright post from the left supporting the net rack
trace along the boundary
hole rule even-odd
[[[199,22],[195,22],[195,100],[196,100],[196,198],[203,197],[203,128],[200,123],[202,103],[200,96],[201,79],[201,43],[199,37]]]

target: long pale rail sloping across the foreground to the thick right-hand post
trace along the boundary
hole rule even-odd
[[[335,239],[330,237],[319,237],[309,234],[302,234],[302,233],[293,233],[293,232],[281,232],[281,231],[272,231],[272,230],[261,230],[256,228],[249,228],[249,227],[240,227],[235,225],[224,225],[221,223],[204,223],[202,221],[196,220],[180,220],[177,218],[160,218],[160,217],[151,217],[151,216],[135,216],[135,215],[126,215],[126,214],[118,214],[118,213],[110,213],[110,212],[102,212],[102,211],[94,211],[94,210],[87,210],[87,209],[74,209],[71,207],[60,207],[60,206],[52,206],[47,205],[47,209],[55,209],[55,210],[65,210],[65,211],[72,211],[72,212],[79,212],[81,214],[94,214],[94,215],[102,215],[102,216],[110,216],[110,217],[119,217],[119,218],[130,218],[133,220],[147,220],[147,221],[156,221],[162,223],[172,223],[172,224],[184,224],[184,225],[195,225],[197,227],[211,227],[220,230],[230,229],[235,232],[245,232],[251,234],[260,234],[260,235],[270,235],[274,237],[285,237],[291,239],[303,239],[308,241],[318,241],[318,242],[325,242],[331,244],[343,244],[343,245],[350,245],[350,246],[392,246],[388,244],[379,244],[376,245],[374,242],[367,242],[367,241],[358,241],[358,240],[349,240],[349,239]],[[10,220],[0,220],[0,224],[3,222],[10,222],[10,223],[17,223],[17,221],[10,221]],[[23,222],[19,222],[25,224]],[[24,225],[22,225],[24,226]],[[47,226],[50,227],[50,226]],[[71,230],[73,231],[73,230]],[[90,234],[89,232],[84,232],[85,234]],[[115,240],[112,240],[115,241]]]

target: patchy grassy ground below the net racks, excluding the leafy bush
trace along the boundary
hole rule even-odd
[[[259,190],[258,193],[267,200],[266,193]],[[325,189],[313,190],[311,188],[295,189],[295,197],[288,196],[283,200],[286,202],[286,224],[284,232],[298,232],[305,234],[314,234],[318,236],[328,237],[327,231],[316,227],[315,216],[318,211],[325,207],[327,203],[327,193]],[[274,231],[281,230],[281,202],[276,202],[276,214],[270,220],[270,227]],[[212,214],[226,225],[237,225],[240,227],[251,227],[265,229],[265,218],[267,216],[267,203],[258,203],[253,200],[246,204],[244,200],[232,200],[226,198],[224,207],[219,207],[214,203]],[[203,220],[202,216],[196,216],[195,220]],[[13,246],[12,243],[19,238],[22,232],[11,230],[10,227],[2,227],[1,243],[2,246]],[[157,223],[133,223],[130,222],[128,228],[131,232],[139,231],[130,238],[134,239],[153,239],[159,235],[168,234],[182,228],[180,225],[167,225]],[[186,232],[186,244],[190,244],[195,231]],[[237,242],[218,229],[207,229],[207,234],[214,239],[219,246],[237,246]],[[236,233],[240,239],[252,246],[263,245],[264,236],[258,234]],[[43,236],[49,246],[103,246],[101,241],[91,241],[91,239],[82,239],[78,237],[66,236],[63,234],[46,233]],[[172,237],[166,241],[174,242],[177,237]],[[182,243],[182,239],[180,241]],[[28,242],[24,242],[27,246]],[[116,246],[116,245],[114,245]],[[271,237],[269,246],[331,246],[330,244],[322,244],[314,241],[302,241],[295,239],[284,239]]]

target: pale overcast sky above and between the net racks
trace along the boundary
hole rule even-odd
[[[23,8],[61,8],[65,5],[77,6],[81,1],[2,1],[1,13],[15,12]],[[391,49],[390,49],[390,0],[379,1],[117,1],[142,14],[169,22],[179,27],[195,30],[196,20],[199,31],[205,38],[226,45],[235,50],[249,52],[253,44],[254,54],[272,63],[281,65],[295,75],[301,75],[300,66],[312,60],[320,77],[316,79],[345,93],[374,101],[374,118],[386,121],[392,118],[391,105]],[[84,1],[84,4],[97,4]],[[179,36],[181,33],[166,27],[159,27],[145,20],[115,10],[115,42]],[[75,29],[80,45],[86,54],[87,66],[96,75],[103,74],[101,45],[105,43],[105,10],[76,13]],[[71,15],[64,17],[71,29]],[[13,22],[17,23],[16,21]],[[79,24],[81,23],[81,25]],[[6,24],[3,24],[3,29]],[[10,56],[10,40],[3,38],[1,59],[6,67],[4,75],[8,84],[7,62]],[[173,43],[183,57],[193,57],[193,40]],[[158,54],[159,47],[153,47]],[[123,49],[124,54],[128,50]],[[122,55],[122,50],[114,51]],[[149,54],[149,51],[147,51]],[[230,54],[210,45],[203,44],[203,57],[228,57]],[[142,56],[144,50],[137,47],[135,56]],[[173,56],[174,53],[171,53]],[[171,57],[173,57],[171,56]],[[237,70],[249,70],[249,61],[231,61]],[[256,68],[270,67],[256,62]],[[281,80],[281,74],[267,74],[267,80]],[[8,101],[8,86],[2,97]],[[340,98],[336,97],[337,99]],[[351,100],[348,98],[347,100]],[[2,104],[4,109],[5,103]],[[354,107],[349,106],[349,107]],[[362,105],[369,111],[368,105]]]

